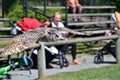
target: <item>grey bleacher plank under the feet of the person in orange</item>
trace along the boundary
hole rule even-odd
[[[76,23],[68,23],[68,26],[80,26],[80,25],[91,25],[91,24],[108,24],[108,23],[115,23],[113,20],[111,21],[95,21],[95,22],[76,22]]]

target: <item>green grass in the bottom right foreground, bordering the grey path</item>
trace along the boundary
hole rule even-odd
[[[65,72],[48,76],[45,80],[120,80],[120,65]]]

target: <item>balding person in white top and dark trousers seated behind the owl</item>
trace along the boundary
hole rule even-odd
[[[50,27],[65,27],[64,24],[61,22],[61,15],[59,12],[56,12],[54,15],[53,15],[53,21],[51,22],[51,25]],[[60,32],[63,37],[66,37],[68,32]],[[64,40],[66,40],[67,38],[65,38]],[[81,64],[81,62],[79,62],[78,60],[76,60],[76,44],[65,44],[65,45],[59,45],[59,46],[56,46],[58,50],[61,50],[63,53],[67,53],[67,49],[68,49],[68,46],[72,46],[71,48],[71,54],[72,54],[72,63],[73,64]]]

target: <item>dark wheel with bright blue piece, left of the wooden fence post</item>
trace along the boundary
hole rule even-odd
[[[25,56],[25,59],[22,58],[20,60],[20,68],[21,69],[31,69],[33,66],[33,60],[27,56]]]

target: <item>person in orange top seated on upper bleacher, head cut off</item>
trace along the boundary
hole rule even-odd
[[[77,10],[78,10],[78,13],[82,12],[81,4],[79,3],[78,0],[67,0],[67,4],[72,9],[72,13],[74,14],[72,20],[76,21],[75,14],[77,13]],[[80,16],[77,16],[77,21],[81,21]]]

